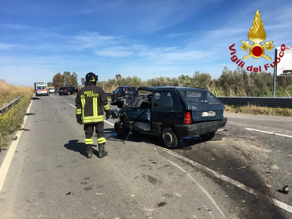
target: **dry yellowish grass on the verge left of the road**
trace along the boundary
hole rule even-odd
[[[20,94],[24,96],[18,104],[9,109],[6,113],[0,115],[0,148],[7,146],[8,136],[17,131],[23,122],[24,114],[34,94],[34,87],[14,86],[7,84],[0,79],[0,106],[17,98]]]

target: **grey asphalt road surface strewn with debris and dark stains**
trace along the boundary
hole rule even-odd
[[[105,123],[109,155],[87,159],[75,97],[40,98],[13,151],[0,218],[292,218],[291,194],[277,191],[292,185],[292,138],[246,129],[292,135],[291,118],[226,113],[226,131],[173,151],[144,134],[124,142]]]

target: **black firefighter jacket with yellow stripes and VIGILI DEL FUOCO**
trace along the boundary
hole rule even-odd
[[[75,98],[76,118],[83,124],[103,122],[103,110],[109,112],[105,91],[94,84],[87,84]]]

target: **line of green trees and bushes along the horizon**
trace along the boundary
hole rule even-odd
[[[102,87],[105,92],[112,92],[119,86],[187,86],[199,87],[210,90],[216,96],[259,96],[263,93],[271,93],[274,76],[270,72],[247,72],[245,69],[237,68],[234,71],[223,68],[222,74],[217,79],[212,79],[209,73],[196,71],[192,76],[180,75],[179,77],[156,77],[142,81],[140,77],[122,77],[120,74],[107,81],[97,81],[97,86]],[[77,74],[64,72],[55,74],[53,86],[78,86]],[[84,86],[85,79],[81,78]],[[285,93],[292,89],[292,76],[279,76],[276,86]],[[284,94],[285,95],[285,94]]]

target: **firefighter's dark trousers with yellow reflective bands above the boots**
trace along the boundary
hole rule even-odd
[[[92,124],[84,124],[84,132],[85,132],[85,144],[93,144],[92,135],[94,132],[97,134],[98,144],[105,143],[105,132],[103,131],[104,123],[92,123]]]

